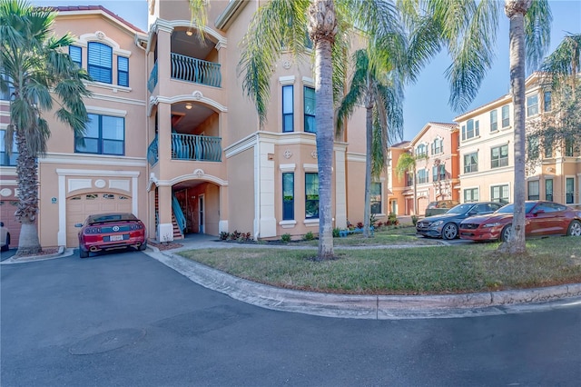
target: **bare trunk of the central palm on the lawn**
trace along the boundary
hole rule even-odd
[[[309,7],[309,35],[315,47],[315,125],[319,165],[320,260],[334,257],[332,223],[333,89],[331,48],[337,34],[333,0],[314,0]]]

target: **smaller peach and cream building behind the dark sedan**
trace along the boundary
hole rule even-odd
[[[416,157],[416,199],[419,215],[426,213],[429,202],[458,200],[458,125],[428,123],[408,146]],[[408,176],[406,214],[413,214],[414,186]]]

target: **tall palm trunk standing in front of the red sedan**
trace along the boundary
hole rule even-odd
[[[510,19],[510,88],[515,108],[515,213],[512,233],[499,247],[507,253],[525,253],[525,14],[532,0],[506,0]]]

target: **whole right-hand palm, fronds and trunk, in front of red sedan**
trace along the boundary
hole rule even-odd
[[[448,48],[452,64],[450,105],[464,110],[478,93],[492,65],[500,2],[496,0],[425,0],[406,7],[413,23],[432,29]],[[525,246],[525,64],[535,68],[548,48],[552,20],[547,0],[505,0],[510,20],[510,83],[515,105],[515,216],[507,253],[524,253]],[[525,45],[526,43],[526,45]]]

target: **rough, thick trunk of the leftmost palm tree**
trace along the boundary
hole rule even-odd
[[[41,252],[36,228],[36,214],[38,213],[38,164],[28,150],[26,136],[20,128],[16,128],[16,146],[18,158],[16,160],[16,174],[18,176],[18,209],[16,218],[22,223],[18,251],[15,256],[29,255]]]

